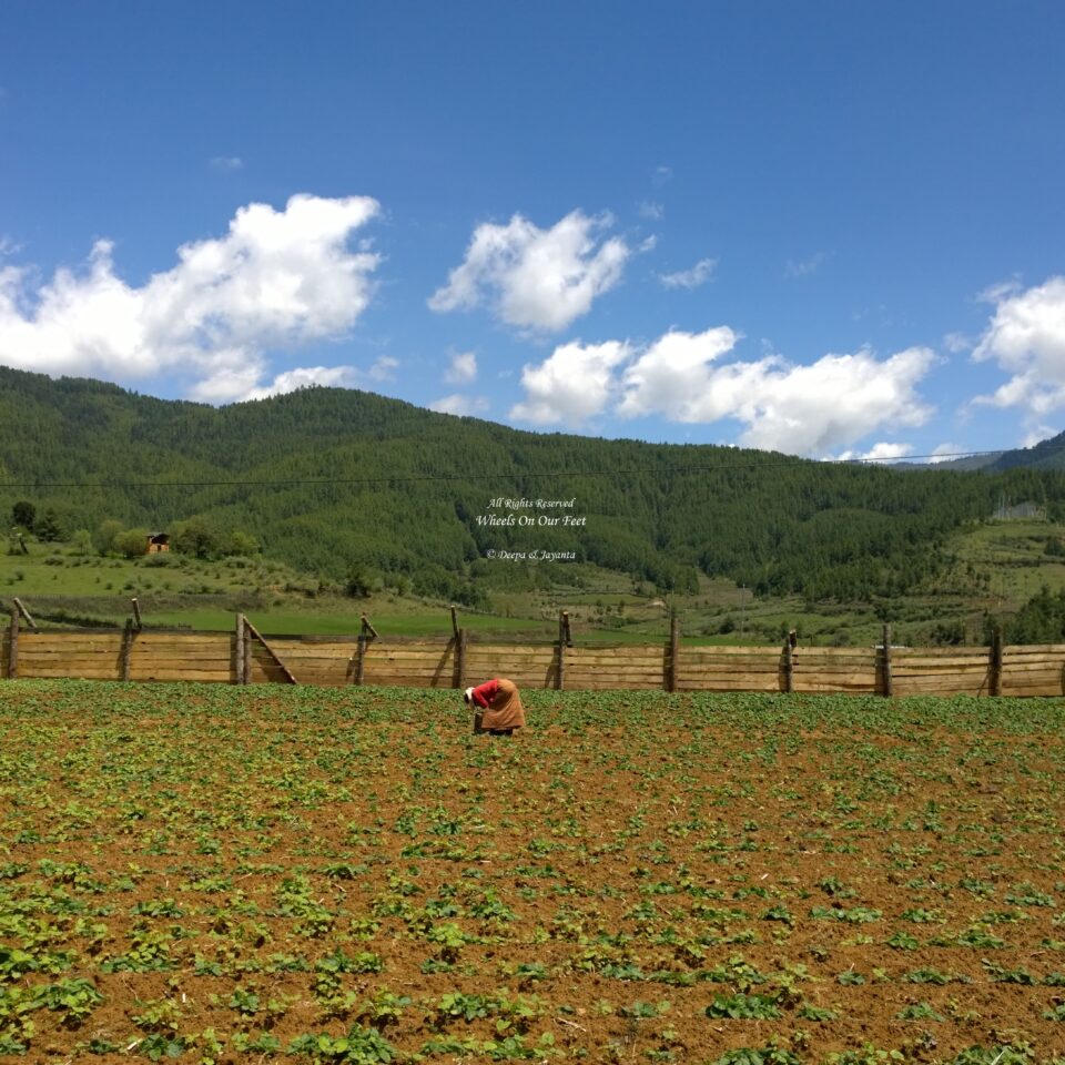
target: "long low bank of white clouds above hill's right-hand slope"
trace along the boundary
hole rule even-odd
[[[747,426],[744,446],[820,457],[931,416],[916,392],[935,361],[929,348],[884,359],[862,349],[825,355],[809,366],[789,365],[777,355],[724,362],[738,339],[719,326],[670,332],[639,348],[618,342],[564,345],[544,363],[525,367],[527,402],[510,416],[570,425],[608,412],[691,424],[734,418]]]

